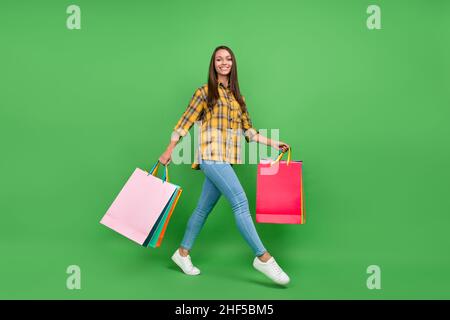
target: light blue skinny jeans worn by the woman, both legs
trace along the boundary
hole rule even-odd
[[[231,204],[239,232],[255,255],[261,256],[266,249],[253,224],[247,196],[231,165],[227,162],[202,160],[200,170],[205,174],[205,182],[197,207],[187,223],[181,247],[191,250],[208,215],[223,194]]]

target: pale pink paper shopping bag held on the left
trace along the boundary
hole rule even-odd
[[[100,223],[144,245],[145,240],[180,187],[156,176],[159,161],[150,172],[136,168]],[[159,219],[161,220],[161,219]]]

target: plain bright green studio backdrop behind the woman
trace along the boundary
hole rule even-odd
[[[2,0],[0,298],[450,298],[449,30],[445,0]],[[169,167],[184,191],[160,248],[99,223],[221,44],[254,126],[304,161],[307,223],[256,225],[287,288],[253,269],[223,197],[192,251],[202,275],[172,263],[204,179],[189,164]],[[256,164],[234,168],[254,215]]]

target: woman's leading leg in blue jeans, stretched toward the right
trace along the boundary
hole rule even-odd
[[[204,162],[201,169],[215,187],[231,204],[239,232],[256,256],[262,256],[266,249],[262,244],[250,215],[247,196],[236,173],[229,163]]]

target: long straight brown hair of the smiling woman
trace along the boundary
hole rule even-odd
[[[214,67],[214,60],[216,58],[216,52],[220,49],[225,49],[228,51],[228,53],[231,55],[231,61],[233,62],[231,65],[231,72],[228,75],[228,86],[231,89],[231,92],[233,93],[235,99],[238,101],[239,105],[241,106],[241,110],[243,113],[247,111],[246,104],[244,102],[244,99],[242,99],[241,92],[239,91],[239,82],[237,77],[237,63],[236,58],[234,57],[233,51],[228,48],[227,46],[218,46],[216,49],[214,49],[214,52],[211,56],[211,61],[209,63],[209,74],[208,74],[208,98],[207,98],[207,105],[209,110],[212,110],[213,106],[216,104],[217,100],[219,99],[219,91],[217,90],[217,72],[216,68]]]

